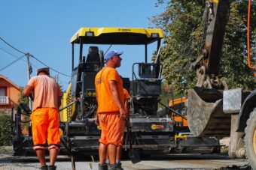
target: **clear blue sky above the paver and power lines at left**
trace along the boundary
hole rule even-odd
[[[72,45],[70,38],[81,27],[155,27],[152,16],[162,13],[164,6],[155,7],[157,0],[1,0],[0,37],[19,49],[29,52],[39,61],[59,71],[59,84],[64,90],[69,85],[72,73]],[[105,51],[108,46],[105,46]],[[132,77],[134,62],[144,61],[144,46],[111,46],[123,51],[121,76]],[[150,56],[156,45],[148,49]],[[78,50],[78,48],[76,49]],[[26,57],[6,67],[23,54],[12,49],[0,40],[0,74],[16,85],[25,86],[28,82]],[[36,69],[45,67],[35,58],[30,58],[32,75]],[[75,65],[78,56],[75,57]],[[4,70],[2,68],[6,67]],[[62,74],[68,76],[63,76]]]

